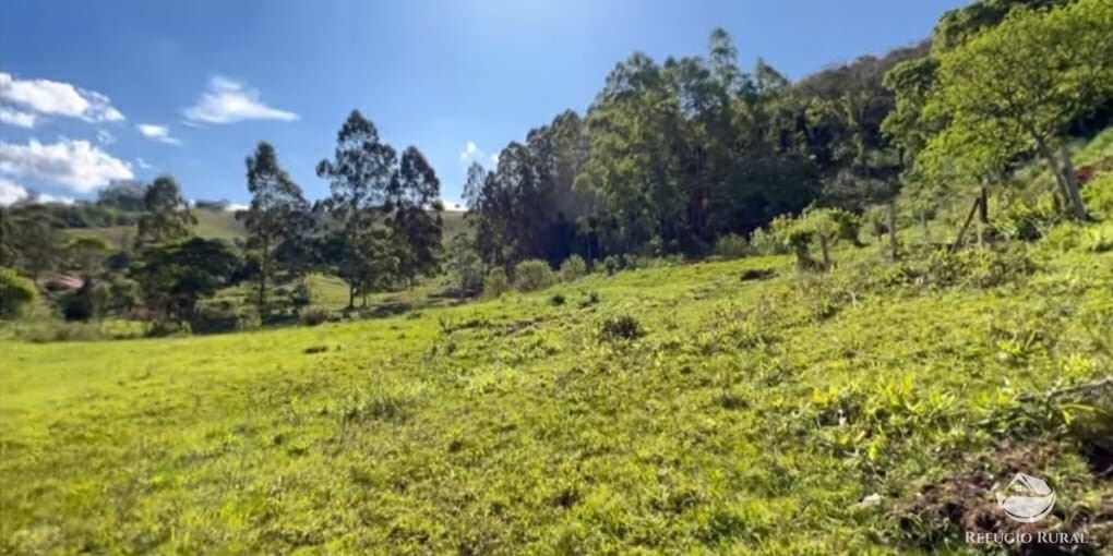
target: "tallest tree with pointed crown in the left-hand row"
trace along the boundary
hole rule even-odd
[[[328,212],[341,237],[334,241],[338,276],[348,285],[348,308],[355,306],[356,294],[366,292],[376,277],[373,260],[381,238],[373,234],[375,210],[394,176],[395,152],[378,139],[375,125],[353,110],[336,136],[333,160],[317,165],[317,176],[329,180],[332,196],[326,201]]]

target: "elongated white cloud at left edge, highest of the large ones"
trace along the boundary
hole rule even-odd
[[[0,100],[50,116],[86,121],[121,121],[124,115],[108,97],[49,79],[16,79],[0,72]]]

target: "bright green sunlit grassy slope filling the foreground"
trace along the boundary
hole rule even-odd
[[[6,342],[0,547],[962,553],[964,530],[1016,530],[993,489],[1024,470],[1058,496],[1028,530],[1110,549],[1113,404],[1067,388],[1113,368],[1113,252],[836,258],[317,328]]]

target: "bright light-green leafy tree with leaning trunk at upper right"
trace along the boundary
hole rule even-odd
[[[1113,97],[1113,4],[1077,0],[1005,20],[939,54],[927,120],[944,120],[920,160],[934,176],[979,181],[1030,150],[1055,177],[1074,218],[1086,218],[1063,136]]]

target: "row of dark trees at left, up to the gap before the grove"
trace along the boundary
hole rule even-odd
[[[274,299],[275,286],[311,271],[343,279],[349,308],[358,296],[439,271],[441,185],[416,147],[398,156],[353,111],[317,175],[331,195],[309,203],[274,147],[259,142],[246,159],[250,205],[236,215],[247,232],[238,245],[194,235],[197,218],[170,176],[138,189],[120,183],[101,196],[110,199],[105,205],[138,209],[135,234],[117,252],[96,237],[67,241],[52,217],[56,207],[4,209],[0,266],[36,282],[55,270],[79,272],[81,287],[60,298],[67,317],[141,306],[148,318],[170,324],[188,322],[200,300],[240,282],[253,286],[252,304],[266,318],[289,301]]]

